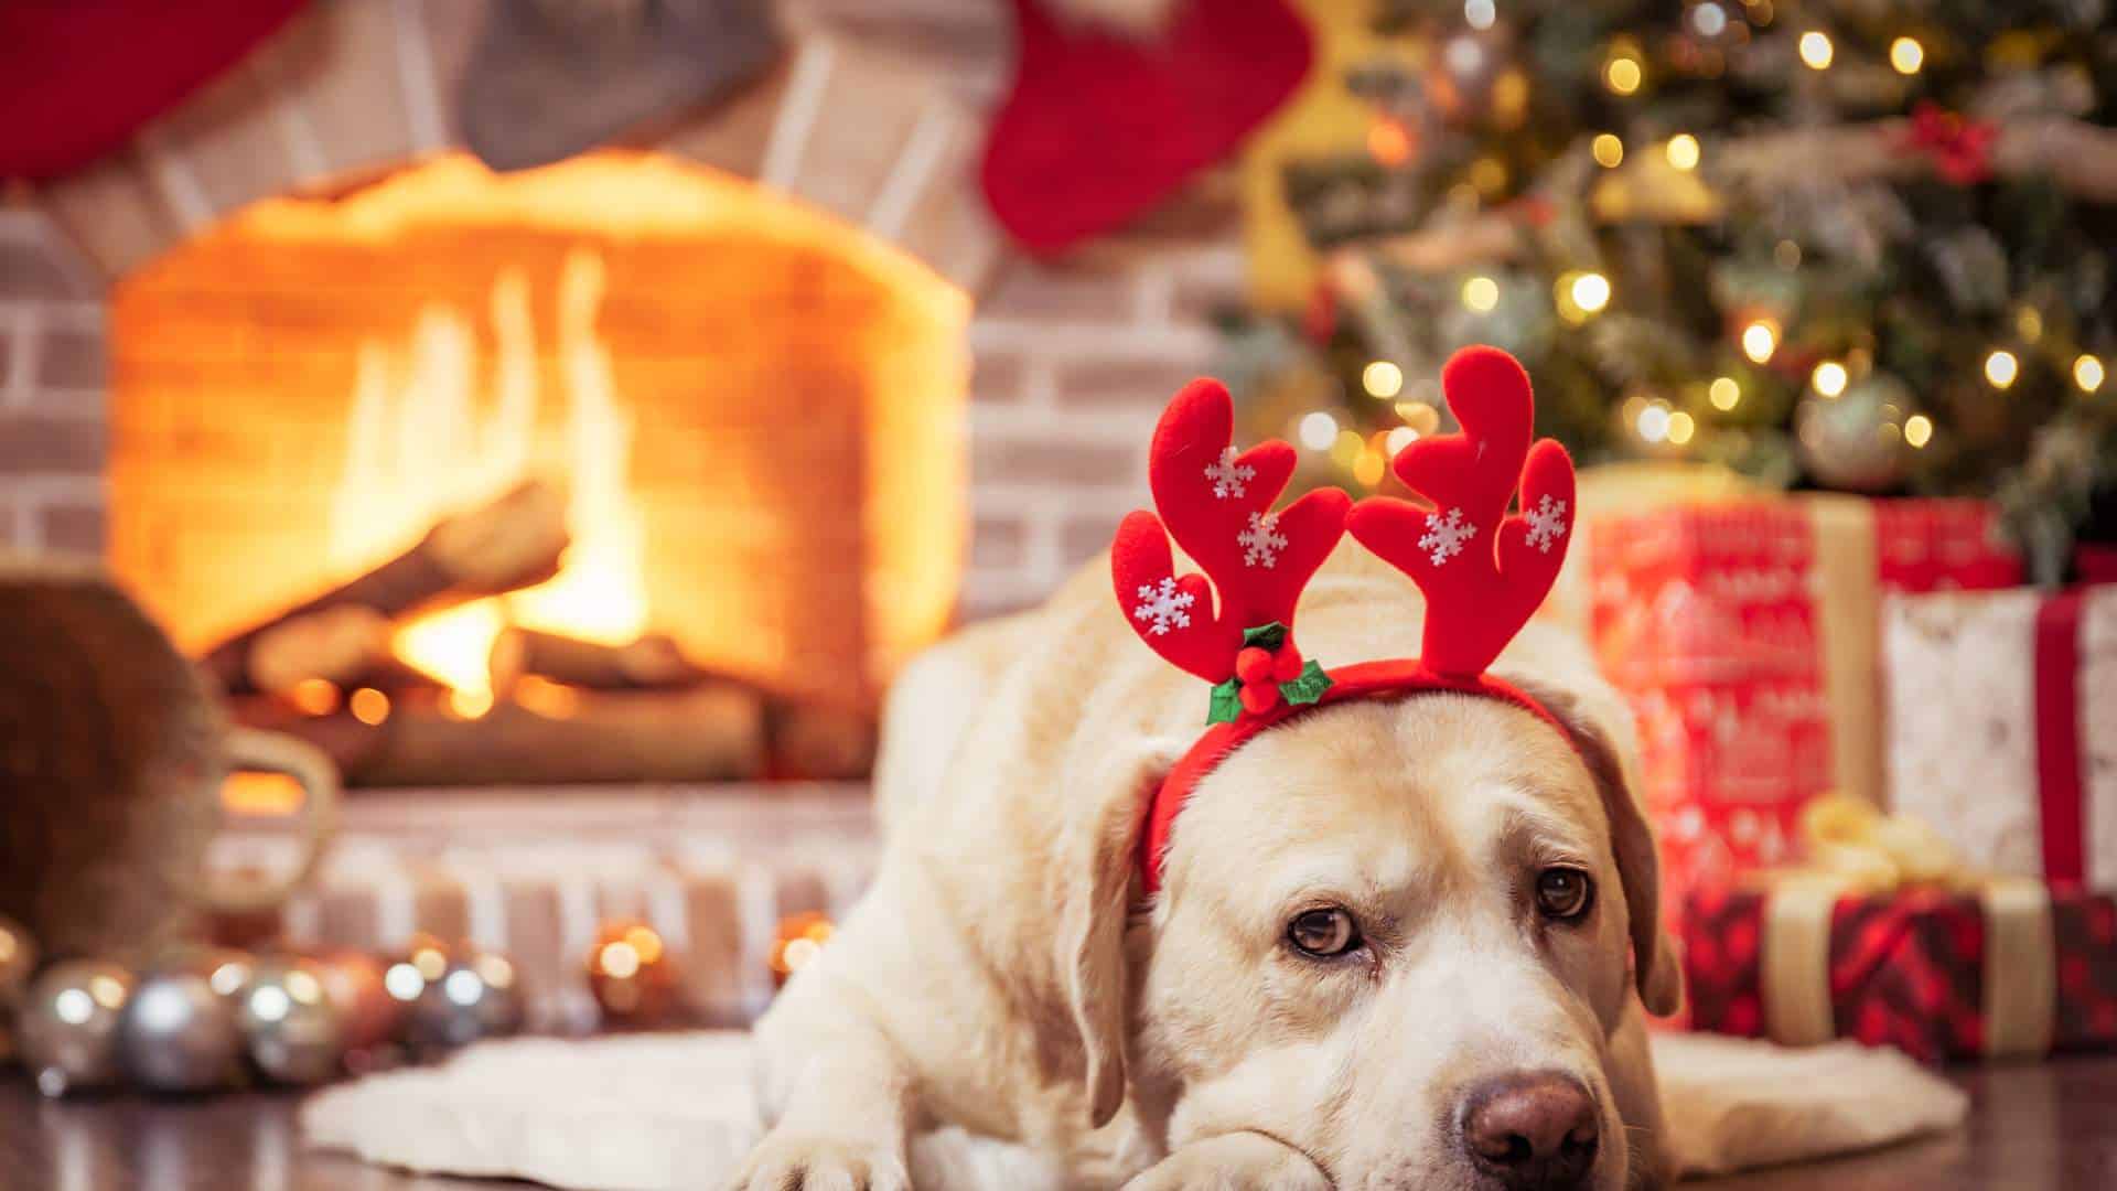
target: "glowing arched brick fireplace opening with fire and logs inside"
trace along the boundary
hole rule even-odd
[[[110,309],[114,570],[351,784],[853,776],[953,612],[967,299],[747,180],[440,157]]]

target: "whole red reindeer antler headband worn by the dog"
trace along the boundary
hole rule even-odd
[[[1234,405],[1211,379],[1183,386],[1162,413],[1147,456],[1160,517],[1126,517],[1109,568],[1139,638],[1215,687],[1211,727],[1147,803],[1139,867],[1150,896],[1160,888],[1171,826],[1198,780],[1249,737],[1308,708],[1456,691],[1503,699],[1564,731],[1484,668],[1558,579],[1573,532],[1573,460],[1550,439],[1531,445],[1535,401],[1514,356],[1465,348],[1442,369],[1442,388],[1463,432],[1412,443],[1395,462],[1397,477],[1431,509],[1387,496],[1353,506],[1344,492],[1325,487],[1272,513],[1293,475],[1293,447],[1270,441],[1236,454]],[[1516,487],[1522,504],[1507,513]],[[1421,657],[1323,670],[1296,648],[1302,587],[1346,530],[1425,591]],[[1202,576],[1175,574],[1169,536]]]

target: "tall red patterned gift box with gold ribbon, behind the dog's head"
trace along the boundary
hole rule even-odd
[[[1886,591],[2022,579],[1973,500],[1679,504],[1596,519],[1588,549],[1592,638],[1639,714],[1679,896],[1785,860],[1819,793],[1880,801]]]

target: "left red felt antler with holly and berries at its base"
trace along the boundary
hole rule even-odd
[[[1222,685],[1215,718],[1234,714],[1236,661],[1249,648],[1260,648],[1262,661],[1249,655],[1243,663],[1245,708],[1262,712],[1277,704],[1272,691],[1291,701],[1304,701],[1310,687],[1321,693],[1319,672],[1300,682],[1313,668],[1302,665],[1291,644],[1293,606],[1344,534],[1351,506],[1344,492],[1319,490],[1272,513],[1293,475],[1293,447],[1268,441],[1236,454],[1232,441],[1228,390],[1213,379],[1183,386],[1162,411],[1147,454],[1147,485],[1160,517],[1128,515],[1109,547],[1126,621],[1154,653]],[[1175,574],[1169,536],[1205,574]]]

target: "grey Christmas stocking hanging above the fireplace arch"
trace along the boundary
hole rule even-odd
[[[768,0],[512,0],[464,70],[464,140],[493,170],[548,165],[726,97],[779,57]]]

